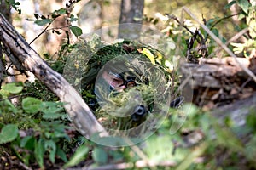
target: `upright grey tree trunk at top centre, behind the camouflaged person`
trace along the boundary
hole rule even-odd
[[[119,18],[119,38],[136,40],[143,23],[144,0],[122,0]],[[122,25],[130,23],[129,26]]]

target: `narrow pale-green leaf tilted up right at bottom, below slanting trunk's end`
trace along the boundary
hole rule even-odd
[[[89,148],[86,145],[81,145],[76,150],[76,152],[71,157],[71,159],[69,161],[67,161],[67,163],[64,165],[63,168],[72,167],[72,166],[75,166],[75,165],[79,164],[80,161],[84,160],[84,158],[87,155],[88,151],[89,151]]]

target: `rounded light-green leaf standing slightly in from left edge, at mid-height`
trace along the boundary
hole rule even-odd
[[[40,99],[27,97],[22,100],[22,108],[27,113],[37,113],[41,109],[42,101]]]

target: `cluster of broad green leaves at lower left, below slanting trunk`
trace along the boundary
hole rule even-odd
[[[6,94],[20,93],[20,88],[22,90],[23,87],[15,87],[14,83],[6,84],[0,94],[7,97]],[[71,128],[67,126],[69,121],[63,104],[26,97],[19,106],[6,98],[0,101],[0,105],[0,144],[10,143],[9,149],[20,161],[26,166],[37,161],[40,167],[44,167],[44,156],[49,157],[52,163],[55,163],[56,156],[67,161],[61,144],[71,142],[66,133]]]

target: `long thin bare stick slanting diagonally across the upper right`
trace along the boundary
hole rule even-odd
[[[228,54],[230,54],[231,57],[233,57],[235,60],[236,60],[236,63],[241,67],[241,69],[243,71],[245,71],[247,73],[247,75],[249,77],[252,77],[253,78],[253,81],[256,82],[256,77],[255,75],[253,74],[252,71],[250,71],[249,69],[247,69],[244,65],[241,65],[241,63],[239,62],[239,60],[237,59],[236,55],[230,50],[230,48],[228,48],[223,42],[221,42],[221,40],[216,37],[212,31],[209,30],[209,28],[207,28],[207,26],[201,24],[201,21],[198,20],[194,14],[192,14],[188,8],[186,7],[183,7],[183,10],[190,15],[190,17],[192,19],[194,19],[205,31],[207,31],[207,33],[212,37],[212,39],[218,43],[218,45],[220,45],[221,48],[223,48]]]

